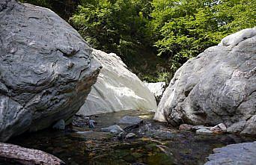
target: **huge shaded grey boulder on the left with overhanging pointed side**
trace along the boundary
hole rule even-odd
[[[67,121],[100,63],[78,32],[43,7],[0,2],[0,141]]]

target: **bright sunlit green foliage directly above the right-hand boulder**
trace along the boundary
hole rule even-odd
[[[148,27],[159,55],[168,57],[175,71],[228,34],[253,28],[255,4],[246,0],[153,0]]]

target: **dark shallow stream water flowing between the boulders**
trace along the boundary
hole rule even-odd
[[[139,128],[128,132],[132,139],[120,139],[100,131],[114,125],[123,116],[144,119]],[[231,143],[255,141],[255,137],[234,134],[197,135],[192,131],[178,131],[164,123],[154,122],[153,113],[127,110],[91,116],[95,128],[72,126],[66,131],[52,129],[24,134],[8,141],[19,146],[40,149],[61,158],[66,164],[204,164],[214,148]],[[86,131],[83,134],[76,131]],[[7,164],[0,163],[0,164]]]

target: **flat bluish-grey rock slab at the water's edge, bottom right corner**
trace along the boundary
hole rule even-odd
[[[256,142],[231,144],[213,149],[213,153],[204,165],[256,164]]]

